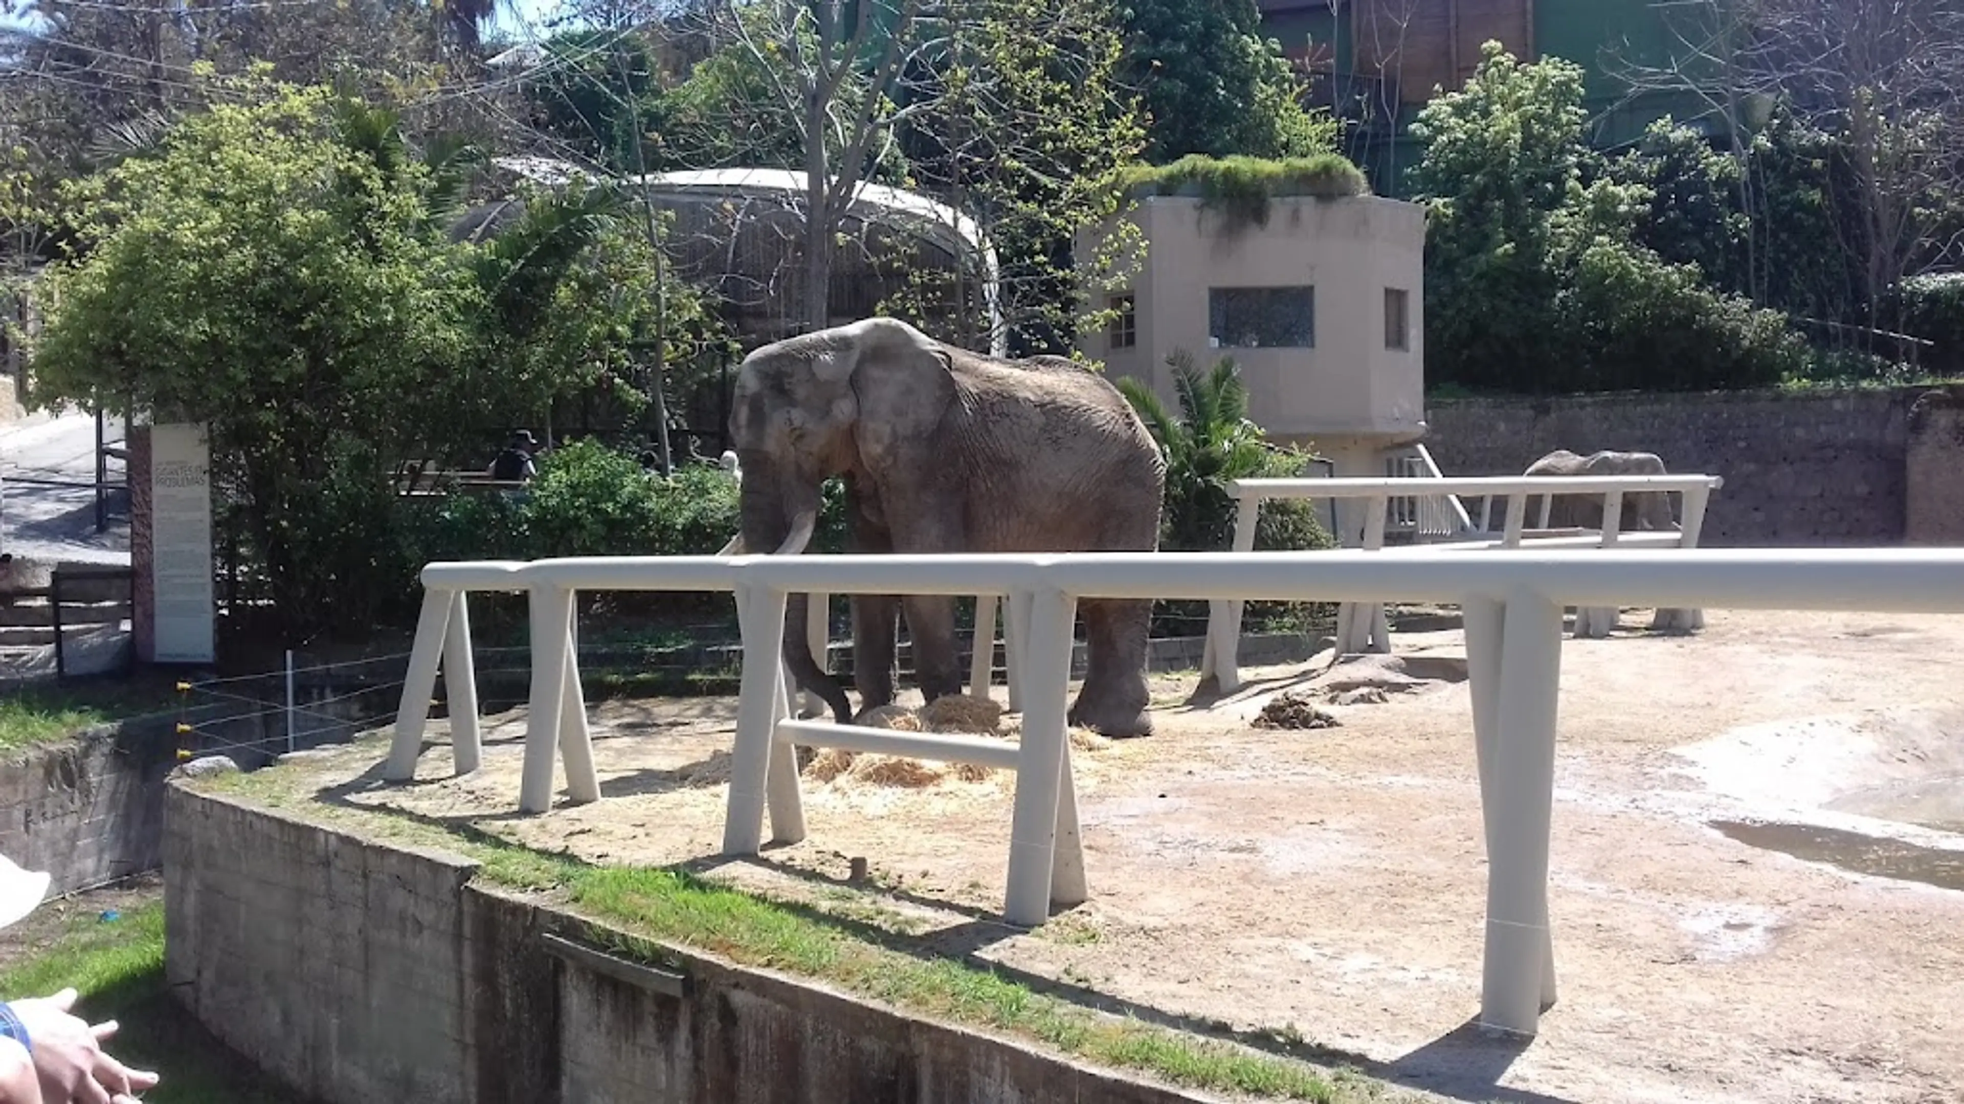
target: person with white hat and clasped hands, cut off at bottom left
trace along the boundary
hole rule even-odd
[[[22,870],[0,856],[0,927],[41,906],[45,870]],[[71,1014],[75,988],[0,1004],[0,1104],[136,1104],[157,1075],[130,1069],[102,1049],[116,1021],[88,1023]]]

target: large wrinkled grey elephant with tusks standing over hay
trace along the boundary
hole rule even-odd
[[[1165,462],[1131,405],[1064,358],[996,359],[866,318],[762,346],[736,371],[742,546],[799,554],[825,479],[843,477],[852,552],[1153,552]],[[927,701],[962,691],[955,599],[852,599],[860,709],[894,701],[905,609]],[[1070,723],[1143,737],[1151,601],[1080,601],[1088,672]],[[852,709],[805,642],[791,595],[784,658],[839,723]]]

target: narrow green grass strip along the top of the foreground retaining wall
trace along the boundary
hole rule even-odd
[[[1387,1088],[1353,1071],[1322,1069],[1171,1027],[1100,1016],[1041,994],[992,968],[958,959],[909,955],[866,941],[843,923],[672,868],[589,864],[513,843],[485,843],[409,821],[387,809],[324,807],[300,794],[297,774],[269,768],[198,782],[316,823],[359,827],[383,839],[442,847],[479,862],[495,886],[564,896],[589,919],[630,935],[613,949],[650,965],[668,965],[638,939],[705,951],[744,966],[762,966],[829,982],[862,998],[949,1023],[1039,1041],[1064,1055],[1145,1073],[1165,1082],[1318,1104],[1375,1100]],[[882,910],[884,911],[884,910]]]

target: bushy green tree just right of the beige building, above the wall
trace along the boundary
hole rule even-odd
[[[1638,242],[1660,228],[1658,194],[1642,165],[1607,171],[1585,143],[1581,102],[1581,67],[1522,65],[1487,43],[1473,79],[1412,124],[1430,381],[1703,389],[1797,371],[1805,348],[1781,314]]]

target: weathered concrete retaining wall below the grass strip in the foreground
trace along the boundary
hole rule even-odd
[[[1212,1100],[676,949],[560,959],[544,937],[585,927],[465,858],[181,784],[165,807],[171,992],[324,1104]]]

